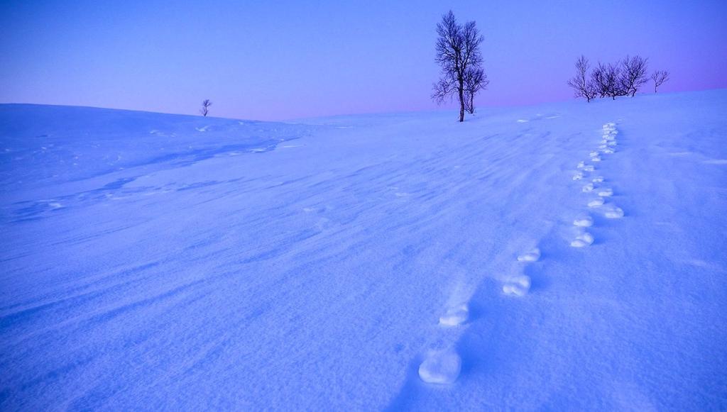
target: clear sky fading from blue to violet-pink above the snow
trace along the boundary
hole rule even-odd
[[[450,8],[485,36],[478,105],[571,98],[579,54],[646,56],[672,72],[664,92],[727,87],[727,0],[0,0],[0,102],[196,114],[209,98],[212,116],[262,120],[433,110]]]

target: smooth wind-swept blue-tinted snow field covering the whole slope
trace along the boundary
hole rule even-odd
[[[724,410],[726,108],[0,105],[0,408]]]

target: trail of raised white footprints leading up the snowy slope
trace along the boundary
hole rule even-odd
[[[600,163],[603,161],[602,155],[611,155],[616,150],[616,136],[619,131],[616,130],[616,124],[607,123],[603,125],[603,140],[596,150],[590,153],[591,163]],[[614,190],[610,187],[603,186],[604,178],[596,174],[593,164],[581,161],[577,165],[577,171],[573,175],[573,180],[586,180],[587,183],[582,186],[582,192],[590,195],[586,203],[587,209],[591,211],[603,211],[603,216],[608,219],[618,219],[624,216],[624,211],[614,203],[606,203],[606,199],[614,195]],[[575,235],[571,246],[574,248],[584,248],[593,244],[595,239],[593,235],[587,232],[588,227],[593,226],[593,217],[587,212],[577,217],[573,221],[575,227]],[[537,262],[540,259],[540,250],[538,248],[531,249],[518,256],[518,262],[523,265]],[[510,296],[524,296],[530,290],[530,277],[524,274],[523,270],[517,275],[507,276],[502,283],[502,292]],[[465,323],[469,318],[469,307],[467,302],[459,302],[451,304],[443,315],[439,318],[439,326],[441,328],[451,329],[451,334],[457,334],[458,328],[466,326]],[[451,336],[454,337],[454,336]],[[459,372],[462,370],[462,358],[454,350],[454,340],[445,339],[450,342],[446,349],[432,350],[427,353],[425,359],[419,365],[419,377],[422,381],[430,384],[451,384],[457,380]]]

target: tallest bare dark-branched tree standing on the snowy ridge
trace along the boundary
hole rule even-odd
[[[437,24],[437,35],[435,61],[441,66],[441,76],[433,85],[432,98],[441,103],[456,94],[459,98],[459,121],[465,121],[465,73],[469,68],[481,65],[480,44],[483,37],[475,22],[459,25],[451,10]]]

